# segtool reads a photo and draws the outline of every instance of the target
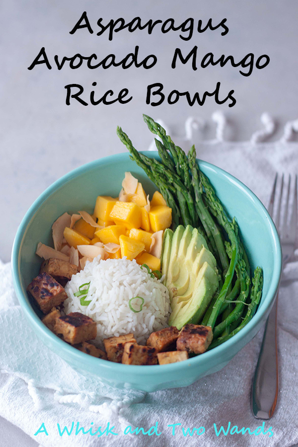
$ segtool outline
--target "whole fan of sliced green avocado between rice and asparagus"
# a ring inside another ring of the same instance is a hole
[[[171,240],[165,234],[164,245],[162,274],[172,308],[169,324],[181,329],[186,323],[198,323],[213,298],[219,284],[216,260],[204,237],[190,225],[179,225]]]

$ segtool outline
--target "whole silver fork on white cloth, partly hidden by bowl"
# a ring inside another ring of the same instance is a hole
[[[278,174],[275,176],[272,194],[270,197],[268,212],[273,219],[276,208],[275,225],[279,232],[283,252],[283,265],[291,260],[297,241],[297,175],[295,176],[294,198],[291,204],[291,175],[289,175],[288,187],[285,184],[284,174],[281,179],[280,191],[277,191]],[[286,188],[286,196],[284,189]],[[284,197],[285,196],[285,197]],[[283,197],[285,199],[285,211],[282,216]],[[292,206],[291,206],[292,205]],[[292,209],[292,213],[290,212]],[[251,391],[251,410],[257,419],[272,418],[276,409],[279,377],[278,377],[278,352],[277,352],[277,302],[276,297],[273,308],[266,322],[264,338],[254,375]]]

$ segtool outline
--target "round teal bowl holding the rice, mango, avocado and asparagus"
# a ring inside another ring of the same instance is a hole
[[[144,152],[158,159],[155,152]],[[204,161],[200,168],[210,178],[230,216],[236,216],[241,237],[253,268],[264,271],[263,295],[256,314],[234,337],[187,361],[154,366],[132,366],[100,360],[78,351],[54,335],[40,320],[26,287],[38,275],[41,259],[35,254],[38,242],[52,244],[51,226],[64,212],[93,212],[98,195],[117,196],[125,171],[131,171],[152,193],[156,187],[128,153],[108,156],[85,164],[57,180],[34,202],[22,220],[12,249],[12,274],[23,312],[38,338],[84,375],[117,388],[143,391],[187,386],[204,375],[222,369],[259,331],[277,294],[282,255],[277,230],[259,199],[239,180]]]

